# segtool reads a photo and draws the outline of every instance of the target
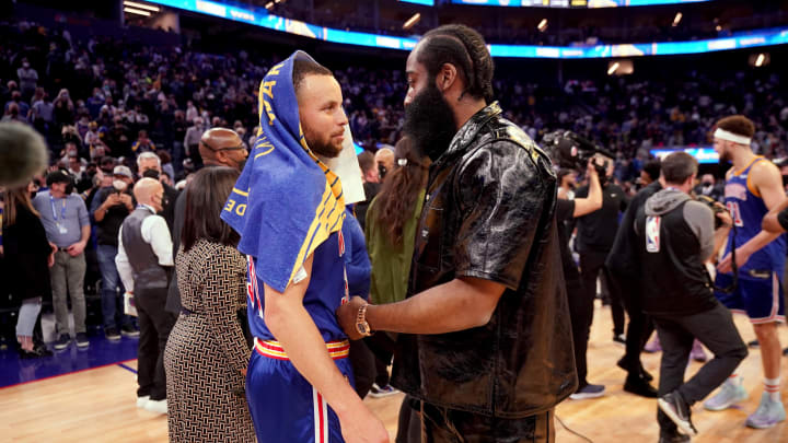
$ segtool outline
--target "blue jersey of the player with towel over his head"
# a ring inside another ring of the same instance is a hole
[[[312,276],[303,299],[304,307],[324,341],[347,339],[335,315],[348,291],[345,277],[345,238],[341,231],[331,234],[313,254]],[[255,265],[259,259],[265,257],[248,257],[246,305],[250,330],[260,340],[276,340],[263,319],[265,287],[255,273]]]

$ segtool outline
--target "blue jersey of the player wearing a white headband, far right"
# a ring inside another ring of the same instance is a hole
[[[734,230],[728,235],[726,254],[731,250],[731,242],[735,237],[735,246],[741,247],[750,238],[761,232],[761,223],[768,212],[757,189],[750,184],[749,175],[753,165],[764,158],[755,158],[744,170],[734,172],[726,182],[726,207],[733,219]],[[740,277],[754,277],[764,271],[776,272],[781,279],[786,260],[786,241],[780,235],[774,242],[754,253],[748,263],[739,268]]]

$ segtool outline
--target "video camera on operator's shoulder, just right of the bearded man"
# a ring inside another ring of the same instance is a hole
[[[606,149],[598,147],[590,140],[564,129],[546,133],[542,138],[542,147],[559,167],[584,171],[589,160],[594,159],[593,165],[596,168],[600,183],[602,184],[606,180],[607,170],[613,164],[613,159],[615,158],[615,155]]]

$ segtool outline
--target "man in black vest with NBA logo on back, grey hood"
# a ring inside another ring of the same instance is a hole
[[[714,212],[721,223],[714,230],[712,210],[690,197],[696,174],[692,155],[668,155],[662,161],[665,188],[646,200],[635,222],[644,310],[652,316],[663,349],[660,442],[690,441],[697,433],[691,406],[721,385],[748,353],[730,312],[714,295],[705,266],[728,237],[732,221],[717,206]],[[684,383],[694,338],[715,358]]]

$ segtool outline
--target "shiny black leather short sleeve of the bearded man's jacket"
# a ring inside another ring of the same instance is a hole
[[[499,140],[479,148],[454,184],[461,211],[455,275],[517,290],[555,180],[546,180],[532,151]]]

